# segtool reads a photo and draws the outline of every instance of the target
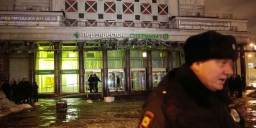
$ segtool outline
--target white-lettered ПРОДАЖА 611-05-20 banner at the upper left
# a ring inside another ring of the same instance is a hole
[[[56,15],[0,15],[0,20],[57,21]]]

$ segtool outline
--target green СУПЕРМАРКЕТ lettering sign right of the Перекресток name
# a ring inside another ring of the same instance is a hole
[[[160,39],[163,38],[167,40],[169,38],[168,34],[130,34],[131,38],[148,38],[148,39]]]

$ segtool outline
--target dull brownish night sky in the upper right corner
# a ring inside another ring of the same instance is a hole
[[[205,0],[205,13],[234,14],[237,19],[248,19],[247,31],[256,42],[256,0]]]

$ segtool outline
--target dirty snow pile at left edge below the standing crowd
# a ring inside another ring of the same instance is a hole
[[[9,101],[5,93],[0,91],[0,118],[5,117],[10,113],[20,112],[23,109],[32,108],[29,104],[16,105],[13,101]]]

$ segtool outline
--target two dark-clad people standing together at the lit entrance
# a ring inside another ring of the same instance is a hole
[[[101,82],[101,80],[98,79],[96,74],[90,75],[90,77],[88,79],[90,93],[92,93],[92,92],[97,93],[98,92],[98,82]]]

